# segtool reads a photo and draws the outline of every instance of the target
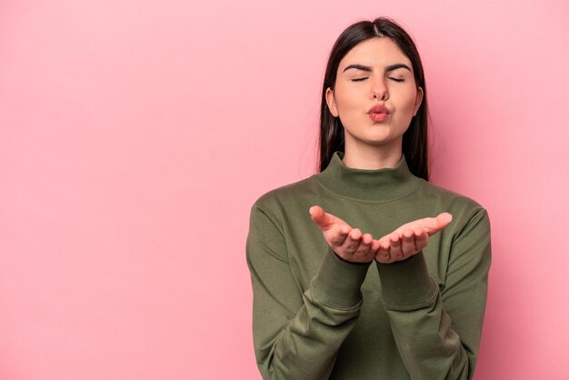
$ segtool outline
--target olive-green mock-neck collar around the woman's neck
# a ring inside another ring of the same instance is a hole
[[[354,169],[342,162],[344,152],[335,151],[330,164],[315,175],[326,189],[335,195],[374,202],[391,201],[409,195],[421,184],[407,166],[405,156],[394,168],[375,170]]]

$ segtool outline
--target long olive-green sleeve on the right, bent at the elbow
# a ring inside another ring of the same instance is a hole
[[[491,260],[490,221],[479,208],[453,237],[442,289],[423,252],[377,263],[395,343],[414,380],[473,378]]]

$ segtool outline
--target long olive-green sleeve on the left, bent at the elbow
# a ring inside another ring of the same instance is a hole
[[[360,313],[360,288],[369,265],[343,262],[328,248],[303,292],[289,265],[282,226],[256,204],[246,259],[254,295],[255,356],[263,378],[327,379]]]

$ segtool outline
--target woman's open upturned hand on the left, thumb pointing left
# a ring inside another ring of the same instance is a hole
[[[371,263],[374,260],[379,241],[374,240],[372,235],[362,235],[358,228],[352,228],[339,217],[325,213],[319,205],[313,205],[308,212],[322,231],[326,243],[340,258],[352,263]]]

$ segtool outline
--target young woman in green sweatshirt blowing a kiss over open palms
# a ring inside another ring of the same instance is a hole
[[[490,221],[429,182],[427,114],[404,29],[389,18],[345,29],[324,75],[319,173],[251,208],[264,379],[473,377]]]

